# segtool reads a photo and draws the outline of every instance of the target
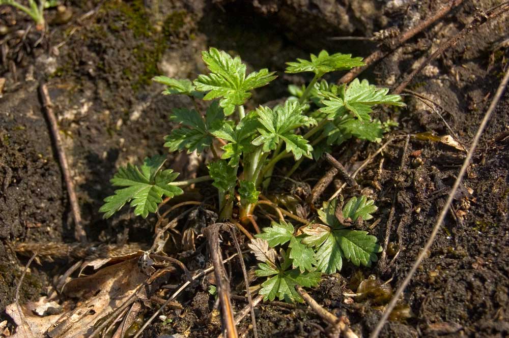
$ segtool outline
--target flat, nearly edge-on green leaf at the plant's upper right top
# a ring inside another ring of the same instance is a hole
[[[348,70],[354,67],[364,66],[362,57],[352,57],[352,54],[335,53],[329,55],[322,50],[318,56],[311,54],[311,60],[297,59],[297,62],[287,62],[287,73],[313,72],[318,76],[326,73]]]

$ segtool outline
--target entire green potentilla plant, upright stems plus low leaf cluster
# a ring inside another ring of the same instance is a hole
[[[193,102],[211,102],[205,112],[199,111],[197,105],[195,109],[174,109],[170,118],[182,126],[167,135],[164,143],[172,152],[202,153],[210,149],[215,160],[207,166],[209,175],[175,181],[178,173],[164,170],[165,158],[161,156],[146,159],[139,168],[129,164],[111,179],[112,185],[124,188],[105,199],[100,209],[104,218],[128,202],[134,207],[134,214],[146,218],[157,210],[163,195],[172,198],[183,194],[180,186],[212,180],[218,191],[220,219],[236,218],[247,224],[279,161],[293,158],[295,164],[287,173],[290,176],[304,158],[318,159],[333,145],[351,137],[380,141],[388,125],[371,117],[373,107],[405,105],[399,95],[389,95],[388,88],[376,87],[367,80],[335,85],[321,79],[329,72],[364,65],[360,57],[321,51],[318,56],[311,54],[310,60],[297,59],[287,64],[287,73],[314,73],[307,86],[291,85],[291,96],[283,104],[260,105],[246,113],[244,104],[251,91],[274,80],[275,73],[261,69],[246,74],[239,57],[216,48],[203,51],[202,57],[209,74],[199,75],[194,81],[165,76],[157,76],[154,81],[166,85],[165,95],[186,95]],[[221,153],[213,146],[215,139],[223,144]],[[336,205],[334,200],[319,211],[325,224],[296,230],[281,219],[264,228],[250,244],[261,261],[257,274],[268,276],[260,290],[267,299],[277,296],[300,301],[292,285],[316,285],[321,272],[340,270],[343,258],[366,266],[376,261],[380,249],[376,238],[349,228],[359,217],[371,218],[371,212],[376,210],[374,201],[353,197],[343,208],[344,217],[334,214]]]

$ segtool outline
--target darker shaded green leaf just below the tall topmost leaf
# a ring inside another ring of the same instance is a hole
[[[164,146],[170,151],[187,149],[187,153],[194,150],[200,153],[210,147],[214,138],[212,133],[224,124],[224,114],[217,102],[207,108],[205,119],[196,110],[187,108],[174,109],[170,119],[190,128],[173,130],[164,137]]]

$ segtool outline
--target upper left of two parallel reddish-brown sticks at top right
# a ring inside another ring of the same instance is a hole
[[[402,44],[413,38],[416,34],[422,32],[422,30],[425,30],[428,28],[432,23],[435,21],[441,19],[444,17],[449,11],[458,5],[460,5],[463,2],[463,0],[453,0],[450,1],[447,5],[439,9],[434,15],[431,17],[420,21],[416,26],[408,29],[405,33],[399,35],[398,37],[393,38],[389,42],[389,50],[377,50],[373,53],[371,53],[370,56],[366,57],[364,59],[365,66],[356,67],[352,69],[350,72],[345,74],[338,82],[340,83],[348,83],[352,81],[354,78],[359,76],[360,73],[362,73],[367,67],[371,66],[372,64],[376,63],[378,60],[384,58],[387,56],[390,52],[394,51],[398,47],[400,47]]]

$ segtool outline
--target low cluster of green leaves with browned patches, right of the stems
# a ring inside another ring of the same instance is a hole
[[[343,258],[357,266],[371,266],[377,261],[376,254],[382,249],[376,243],[377,238],[366,231],[349,228],[352,221],[372,218],[371,213],[377,210],[374,201],[365,196],[352,197],[339,218],[336,207],[337,199],[334,199],[324,203],[323,209],[318,211],[326,225],[310,224],[296,231],[290,223],[280,220],[263,228],[263,232],[251,240],[249,247],[261,261],[256,274],[268,276],[259,292],[264,300],[274,300],[277,296],[280,300],[302,301],[295,285],[317,285],[322,272],[341,270]],[[279,257],[275,251],[277,247]]]

